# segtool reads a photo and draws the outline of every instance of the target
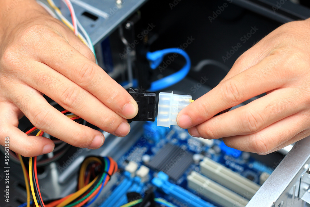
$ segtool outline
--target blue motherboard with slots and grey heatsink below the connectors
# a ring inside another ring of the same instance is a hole
[[[210,163],[214,170],[208,171]],[[156,122],[144,124],[143,136],[117,164],[120,170],[110,181],[113,186],[98,206],[120,207],[146,197],[162,200],[145,206],[245,206],[272,173],[250,153],[232,149],[220,139],[191,137],[186,129],[158,127]],[[225,186],[219,176],[231,184]],[[243,195],[243,190],[250,194]]]

